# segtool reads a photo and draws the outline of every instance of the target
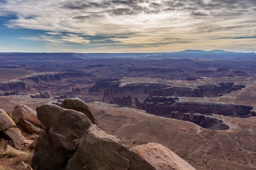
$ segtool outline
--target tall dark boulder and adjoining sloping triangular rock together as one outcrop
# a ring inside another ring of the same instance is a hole
[[[43,105],[37,108],[37,116],[46,127],[32,158],[37,170],[155,169],[81,112]]]

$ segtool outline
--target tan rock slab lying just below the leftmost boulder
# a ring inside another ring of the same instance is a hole
[[[26,138],[22,136],[19,128],[9,128],[7,130],[3,130],[3,132],[13,140],[14,146],[19,150],[27,141]]]

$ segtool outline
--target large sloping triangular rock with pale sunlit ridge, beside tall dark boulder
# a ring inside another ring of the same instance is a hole
[[[111,169],[153,170],[151,164],[132,153],[114,136],[92,125],[81,139],[76,153],[68,161],[67,170]]]

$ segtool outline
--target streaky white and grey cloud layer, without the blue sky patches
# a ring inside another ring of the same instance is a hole
[[[255,5],[253,0],[8,0],[0,4],[0,15],[17,15],[6,24],[10,28],[48,31],[48,35],[32,39],[55,46],[90,43],[79,35],[120,35],[122,38],[109,40],[119,46],[137,45],[141,50],[175,50],[181,44],[182,48],[203,44],[206,49],[212,44],[250,44],[248,40],[213,39],[255,36],[256,22],[251,22],[256,17]],[[255,43],[255,39],[251,42]]]

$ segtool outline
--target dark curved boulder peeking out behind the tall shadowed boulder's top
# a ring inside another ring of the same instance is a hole
[[[89,118],[92,124],[95,124],[95,118],[92,114],[91,109],[84,101],[80,100],[79,98],[65,99],[60,106],[66,109],[72,109],[78,112],[82,112],[87,116],[87,118]]]

